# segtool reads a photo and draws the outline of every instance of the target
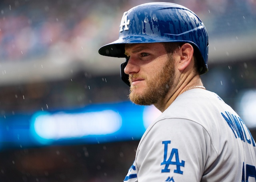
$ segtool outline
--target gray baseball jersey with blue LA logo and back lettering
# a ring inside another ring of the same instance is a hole
[[[256,182],[256,143],[217,94],[178,96],[142,136],[126,182]]]

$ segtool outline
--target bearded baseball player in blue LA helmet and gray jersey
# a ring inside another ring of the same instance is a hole
[[[126,58],[135,104],[162,114],[142,136],[126,182],[256,182],[256,143],[242,118],[206,90],[208,33],[188,8],[154,2],[124,12],[104,56]]]

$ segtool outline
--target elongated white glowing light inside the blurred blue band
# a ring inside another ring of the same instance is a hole
[[[84,113],[36,113],[36,118],[32,122],[35,134],[46,140],[113,134],[121,126],[122,118],[113,110]]]

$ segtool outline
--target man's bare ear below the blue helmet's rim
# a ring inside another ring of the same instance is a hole
[[[177,51],[176,51],[177,52]],[[191,44],[183,44],[178,48],[179,54],[179,62],[177,63],[177,68],[180,71],[183,71],[185,68],[187,68],[193,58],[194,54],[194,48]]]

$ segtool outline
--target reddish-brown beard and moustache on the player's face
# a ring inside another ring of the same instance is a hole
[[[142,75],[134,76],[144,78],[146,88],[139,94],[136,93],[136,88],[139,86],[131,86],[129,94],[130,100],[138,105],[148,106],[156,104],[166,97],[168,91],[174,84],[174,59],[172,56],[168,56],[168,60],[162,70],[155,74],[153,78],[148,79],[148,77]],[[129,77],[130,83],[131,78],[132,76]]]

